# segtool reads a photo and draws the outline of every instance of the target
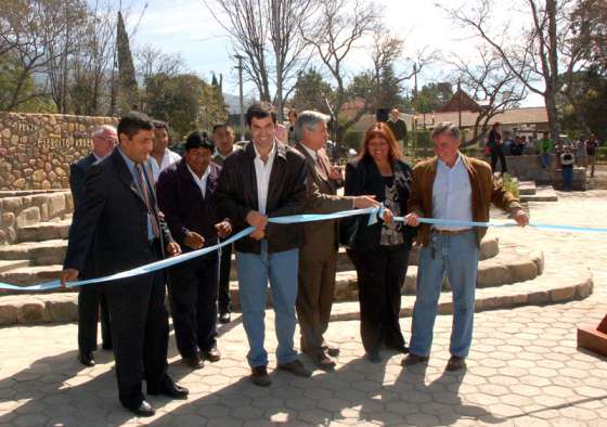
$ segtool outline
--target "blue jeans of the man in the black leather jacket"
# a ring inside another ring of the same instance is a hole
[[[247,361],[251,367],[268,364],[268,352],[263,347],[268,280],[272,290],[274,327],[279,340],[277,363],[284,364],[297,359],[297,352],[293,348],[293,336],[298,264],[299,249],[268,254],[267,241],[261,242],[260,255],[236,253],[238,295],[249,346]]]

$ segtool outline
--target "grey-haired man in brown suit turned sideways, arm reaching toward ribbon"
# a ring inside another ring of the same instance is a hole
[[[302,112],[295,122],[296,148],[306,157],[308,168],[308,198],[306,214],[332,214],[352,208],[379,206],[369,196],[337,196],[341,172],[333,168],[324,151],[328,140],[326,122],[330,117],[317,112]],[[339,349],[325,345],[323,334],[328,326],[337,249],[338,221],[319,221],[304,224],[304,246],[299,253],[299,283],[297,318],[301,333],[301,351],[309,354],[323,371],[332,371]],[[327,354],[328,353],[328,354]]]

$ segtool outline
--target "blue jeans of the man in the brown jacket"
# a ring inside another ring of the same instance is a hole
[[[453,326],[449,351],[461,358],[468,355],[473,339],[477,271],[478,245],[474,231],[455,235],[430,234],[428,246],[422,248],[419,254],[410,348],[412,353],[430,353],[438,299],[447,273],[453,293]]]

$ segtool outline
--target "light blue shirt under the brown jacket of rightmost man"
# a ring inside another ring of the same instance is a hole
[[[473,192],[462,155],[452,168],[438,160],[432,184],[432,218],[457,221],[473,220]],[[438,230],[466,230],[469,227],[435,227]]]

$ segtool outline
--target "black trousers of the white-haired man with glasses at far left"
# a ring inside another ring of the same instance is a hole
[[[101,307],[101,339],[104,348],[112,348],[109,310],[98,285],[82,286],[78,290],[78,350],[90,353],[96,350],[96,323]]]

